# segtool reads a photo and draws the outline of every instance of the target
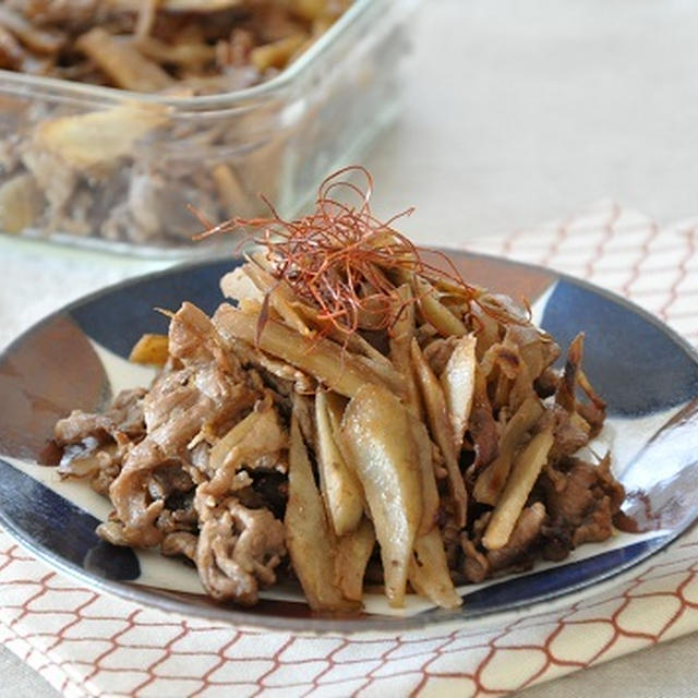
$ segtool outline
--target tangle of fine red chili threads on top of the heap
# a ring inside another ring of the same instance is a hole
[[[351,174],[363,178],[363,188],[346,179]],[[315,210],[302,218],[285,220],[262,197],[270,216],[233,217],[213,227],[198,216],[206,230],[195,239],[246,230],[245,241],[252,240],[266,250],[273,276],[315,309],[318,320],[332,323],[346,335],[357,332],[366,315],[372,328],[389,329],[405,305],[420,300],[400,299],[396,290],[412,274],[436,286],[447,281],[447,293],[457,292],[466,305],[476,302],[496,320],[516,322],[496,304],[479,303],[482,291],[462,279],[445,253],[418,246],[393,227],[412,208],[386,221],[376,218],[370,206],[372,193],[373,180],[365,168],[345,167],[323,181]],[[353,205],[351,197],[358,198]],[[444,266],[428,262],[426,255]],[[257,334],[265,323],[262,317],[261,323]]]

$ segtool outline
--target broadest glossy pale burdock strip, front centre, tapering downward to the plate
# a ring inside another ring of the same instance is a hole
[[[375,527],[385,594],[401,607],[423,512],[410,416],[387,388],[365,384],[345,410],[341,438]]]

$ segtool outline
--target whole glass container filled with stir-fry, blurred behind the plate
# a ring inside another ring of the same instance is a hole
[[[190,4],[0,3],[1,233],[206,254],[182,203],[292,216],[398,113],[416,0]]]

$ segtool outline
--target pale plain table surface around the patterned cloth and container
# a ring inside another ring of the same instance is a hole
[[[365,163],[378,213],[448,244],[613,197],[669,222],[698,214],[698,3],[425,0],[405,111]],[[44,314],[163,263],[0,240],[0,347]],[[698,695],[698,636],[527,698]],[[0,648],[0,696],[56,693]],[[595,691],[595,693],[594,693]]]

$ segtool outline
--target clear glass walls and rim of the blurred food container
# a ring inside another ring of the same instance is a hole
[[[395,116],[416,0],[357,0],[296,62],[233,93],[163,97],[0,70],[0,231],[192,255],[212,224],[292,216]]]

